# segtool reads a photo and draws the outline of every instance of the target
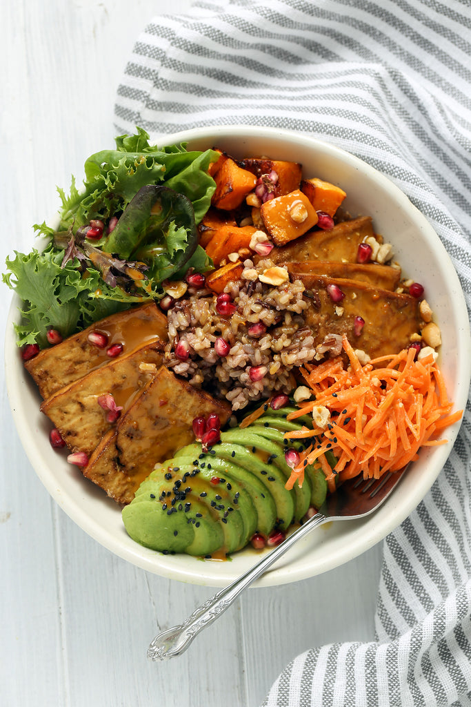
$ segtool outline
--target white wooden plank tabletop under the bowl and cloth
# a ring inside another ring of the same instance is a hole
[[[189,0],[2,3],[1,262],[30,250],[56,185],[112,146],[114,93],[138,32]],[[5,64],[6,62],[6,64]],[[3,265],[2,265],[3,269]],[[1,286],[1,327],[11,293]],[[3,368],[3,367],[2,367]],[[5,707],[258,705],[295,655],[374,636],[381,546],[280,588],[249,590],[181,658],[148,643],[213,590],[138,570],[56,506],[20,446],[1,380],[0,704]]]

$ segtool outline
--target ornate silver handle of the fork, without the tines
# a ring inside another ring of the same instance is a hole
[[[213,597],[201,604],[191,616],[182,624],[167,629],[155,636],[148,648],[149,660],[168,660],[174,658],[189,647],[193,638],[200,631],[213,623],[231,604],[237,599],[239,594],[263,575],[269,567],[273,565],[282,555],[285,554],[299,539],[307,535],[313,528],[321,525],[327,520],[322,513],[316,513],[303,525],[283,540],[269,554],[263,556],[261,561],[254,564],[241,577],[234,580],[226,588],[217,592]]]

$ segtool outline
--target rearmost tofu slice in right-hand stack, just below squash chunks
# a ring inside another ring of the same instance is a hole
[[[374,238],[370,216],[342,221],[330,230],[313,230],[289,245],[273,248],[270,259],[274,263],[329,260],[357,262],[358,246],[365,238]]]

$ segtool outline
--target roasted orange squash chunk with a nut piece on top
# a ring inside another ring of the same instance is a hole
[[[318,221],[316,209],[299,189],[266,201],[260,214],[268,235],[278,246],[304,235]]]

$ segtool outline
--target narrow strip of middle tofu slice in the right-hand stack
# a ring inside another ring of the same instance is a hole
[[[308,260],[287,263],[293,279],[299,275],[324,275],[327,277],[357,280],[383,290],[395,290],[400,281],[400,269],[378,263],[337,263],[327,260]]]

